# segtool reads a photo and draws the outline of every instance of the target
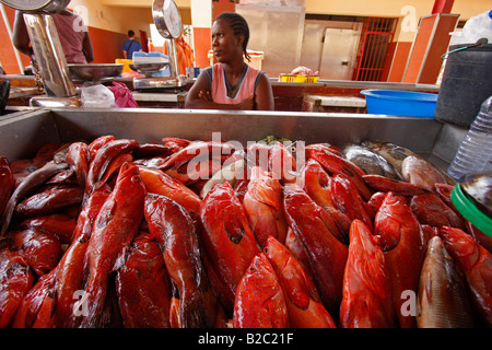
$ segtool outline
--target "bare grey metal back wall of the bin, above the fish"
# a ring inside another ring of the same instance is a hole
[[[163,137],[212,140],[212,133],[220,132],[214,139],[238,141],[244,147],[248,141],[258,141],[267,136],[302,140],[306,144],[329,142],[335,145],[383,140],[426,155],[443,167],[450,162],[462,138],[460,130],[446,130],[447,126],[435,119],[384,115],[39,108],[0,119],[0,155],[12,162],[33,156],[48,142],[90,142],[102,135],[144,143],[160,142]]]

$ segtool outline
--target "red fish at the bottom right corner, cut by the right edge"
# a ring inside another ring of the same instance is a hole
[[[459,229],[441,228],[440,236],[465,272],[480,326],[492,327],[492,254]]]

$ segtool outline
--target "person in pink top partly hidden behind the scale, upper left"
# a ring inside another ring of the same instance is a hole
[[[92,62],[94,50],[82,18],[68,9],[60,13],[52,13],[51,18],[57,27],[67,63],[85,65]],[[19,51],[30,56],[35,61],[27,27],[21,11],[15,11],[12,43]]]

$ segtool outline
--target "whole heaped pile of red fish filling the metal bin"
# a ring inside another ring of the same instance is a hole
[[[304,151],[103,136],[0,158],[0,327],[492,326],[492,238],[437,170]]]

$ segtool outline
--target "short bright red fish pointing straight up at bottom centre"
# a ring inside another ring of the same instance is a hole
[[[251,260],[237,285],[234,328],[286,328],[289,315],[282,288],[263,253]]]

